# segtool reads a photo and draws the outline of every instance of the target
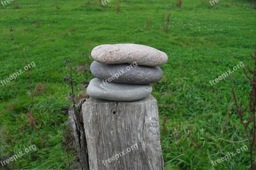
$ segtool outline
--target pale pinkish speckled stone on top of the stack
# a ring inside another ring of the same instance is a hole
[[[134,63],[160,66],[167,62],[167,55],[156,48],[138,44],[106,44],[92,49],[92,58],[102,64]]]

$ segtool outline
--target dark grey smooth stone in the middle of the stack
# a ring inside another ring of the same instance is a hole
[[[94,77],[115,83],[151,84],[163,77],[160,67],[136,64],[101,64],[94,61],[90,70]]]

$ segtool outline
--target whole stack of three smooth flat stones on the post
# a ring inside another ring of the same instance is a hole
[[[93,98],[133,101],[152,92],[150,84],[163,77],[158,67],[167,62],[167,55],[155,48],[138,44],[100,45],[92,50],[95,60],[90,70],[96,78],[87,87]]]

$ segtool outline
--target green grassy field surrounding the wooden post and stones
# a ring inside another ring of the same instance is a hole
[[[117,13],[117,0],[107,7],[99,0],[88,2],[0,4],[0,79],[23,69],[25,57],[36,65],[6,85],[0,84],[0,141],[15,152],[33,144],[37,147],[19,159],[23,167],[69,166],[60,143],[68,119],[60,109],[71,103],[65,101],[71,92],[63,81],[68,75],[65,59],[72,58],[75,71],[77,64],[89,64],[89,46],[135,43],[168,55],[168,62],[161,66],[164,77],[152,85],[165,169],[247,169],[249,150],[215,166],[211,161],[244,145],[249,148],[231,91],[234,87],[239,101],[248,104],[249,81],[241,68],[213,86],[209,80],[241,62],[252,68],[249,54],[254,53],[256,42],[256,11],[251,3],[222,0],[212,7],[207,0],[190,0],[178,8],[176,0],[123,0]],[[88,80],[92,78],[88,73]],[[38,83],[44,86],[34,95],[35,108],[29,80],[32,93]],[[86,96],[85,74],[74,73],[73,80],[76,96]],[[3,146],[0,150],[0,156],[7,159],[8,151]],[[21,168],[18,162],[14,166]]]

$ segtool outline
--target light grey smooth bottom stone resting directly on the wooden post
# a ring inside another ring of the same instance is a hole
[[[87,94],[92,98],[133,101],[147,97],[152,92],[151,85],[134,85],[123,83],[104,82],[98,78],[90,81]]]

